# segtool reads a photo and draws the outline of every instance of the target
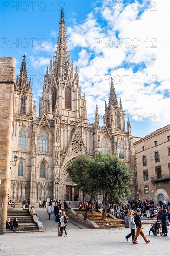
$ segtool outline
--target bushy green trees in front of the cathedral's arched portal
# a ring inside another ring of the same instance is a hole
[[[103,155],[101,152],[94,158],[79,155],[68,168],[72,180],[84,194],[94,197],[103,195],[103,219],[106,219],[107,198],[114,198],[122,204],[130,195],[132,170],[116,156]]]

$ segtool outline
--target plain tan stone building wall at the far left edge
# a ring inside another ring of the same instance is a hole
[[[10,194],[15,58],[0,58],[0,223],[5,229]]]

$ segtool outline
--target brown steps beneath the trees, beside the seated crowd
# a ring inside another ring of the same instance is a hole
[[[74,209],[77,214],[84,215],[87,210],[82,209]],[[92,213],[88,213],[89,219],[94,221],[98,225],[98,229],[111,229],[124,227],[124,222],[122,220],[118,220],[111,214],[107,214],[106,221],[102,220],[102,211],[100,209],[93,209]]]

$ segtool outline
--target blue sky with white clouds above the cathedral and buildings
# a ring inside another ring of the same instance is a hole
[[[78,66],[89,121],[97,104],[103,125],[112,76],[132,135],[143,137],[170,123],[170,1],[1,0],[0,5],[1,57],[16,58],[17,75],[26,54],[37,110],[63,7],[69,54]]]

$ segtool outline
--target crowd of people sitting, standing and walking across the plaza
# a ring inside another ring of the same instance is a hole
[[[8,204],[12,205],[11,200],[9,200]],[[30,208],[30,199],[23,200],[22,205],[23,208]],[[114,202],[114,200],[111,200],[111,202],[108,201],[108,199],[105,202],[107,207],[107,212],[114,215],[116,218],[124,218],[124,216],[128,216],[129,220],[129,227],[131,229],[131,233],[127,235],[125,238],[128,241],[128,239],[132,236],[133,244],[137,243],[137,237],[141,235],[146,243],[149,243],[150,240],[147,240],[144,236],[144,233],[141,228],[141,221],[140,218],[155,218],[157,217],[157,220],[162,221],[162,232],[163,237],[167,236],[167,226],[168,221],[170,221],[170,201],[166,202],[165,200],[159,201],[157,205],[154,203],[152,199],[150,200],[137,200],[136,198],[134,200],[127,200],[124,205],[121,207],[118,206],[117,203]],[[62,206],[64,210],[62,211]],[[79,209],[82,209],[83,203],[79,202]],[[85,201],[84,209],[86,210],[84,215],[84,220],[88,221],[89,216],[88,213],[92,211],[92,209],[101,209],[103,205],[99,203],[96,199],[94,202],[91,202],[91,200]],[[45,208],[47,209],[48,218],[50,220],[52,212],[54,213],[54,222],[58,223],[58,236],[63,237],[63,232],[65,232],[65,236],[67,235],[66,227],[69,222],[68,216],[66,216],[67,209],[71,209],[70,202],[67,203],[65,200],[64,202],[61,201],[61,199],[53,200],[50,199],[49,202],[47,202],[46,199],[39,200],[39,208]],[[35,212],[35,206],[32,205],[30,209],[30,214],[36,215],[37,219],[38,215]],[[13,223],[11,222],[10,218],[7,218],[6,221],[6,229],[10,229],[13,231],[17,231],[18,229],[18,220],[17,218],[14,218]],[[137,229],[137,232],[135,233],[135,230]]]

